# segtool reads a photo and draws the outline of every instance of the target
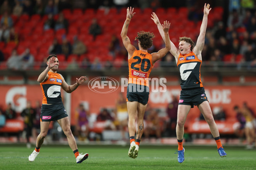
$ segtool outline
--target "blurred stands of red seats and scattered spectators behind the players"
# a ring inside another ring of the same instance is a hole
[[[234,5],[230,0],[227,7],[212,2],[213,12],[209,16],[202,52],[206,63],[228,62],[235,66],[255,67],[256,9],[253,2],[245,1]],[[120,30],[115,28],[122,24],[123,19],[115,15],[125,11],[123,7],[139,7],[137,13],[141,13],[143,19],[148,18],[149,23],[152,11],[166,15],[166,19],[181,15],[182,23],[188,28],[184,28],[186,33],[178,32],[178,35],[189,36],[195,41],[203,14],[198,3],[190,0],[183,5],[164,0],[4,0],[0,4],[0,62],[7,61],[7,67],[14,70],[44,68],[44,58],[59,54],[61,62],[68,62],[65,67],[68,69],[77,66],[93,70],[125,67],[127,52],[120,45]],[[173,25],[181,22],[170,21]],[[134,33],[134,29],[130,31]],[[170,28],[170,37],[177,31],[175,26]],[[155,39],[151,51],[164,45],[161,39]],[[162,67],[174,65],[171,54],[167,54],[160,64]]]

